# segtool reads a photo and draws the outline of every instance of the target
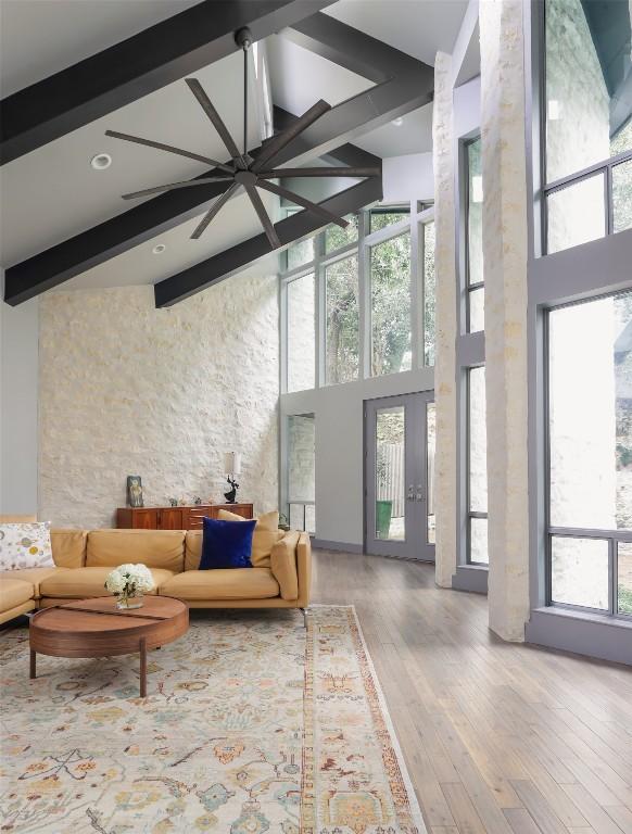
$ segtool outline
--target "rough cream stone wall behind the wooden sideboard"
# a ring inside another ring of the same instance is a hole
[[[152,287],[58,292],[40,315],[40,517],[110,527],[140,475],[146,505],[278,506],[276,277],[237,276],[169,309]]]

